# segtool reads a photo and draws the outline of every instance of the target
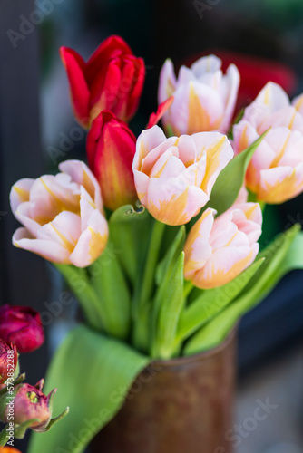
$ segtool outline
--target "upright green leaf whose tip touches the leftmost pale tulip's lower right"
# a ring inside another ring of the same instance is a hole
[[[104,332],[125,340],[131,328],[131,295],[120,262],[112,254],[110,240],[89,271],[100,304]]]

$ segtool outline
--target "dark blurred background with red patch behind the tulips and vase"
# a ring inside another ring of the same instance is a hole
[[[40,14],[34,14],[37,10]],[[64,159],[85,159],[85,133],[73,119],[60,45],[87,59],[105,37],[121,34],[144,58],[146,83],[131,123],[138,134],[157,108],[159,72],[167,57],[176,68],[209,53],[218,54],[225,68],[236,63],[238,108],[269,80],[279,82],[290,97],[303,92],[303,2],[1,0],[0,31],[0,304],[28,304],[42,313],[47,342],[22,357],[34,383],[73,325],[76,303],[59,300],[62,282],[50,265],[11,245],[17,223],[8,194],[19,178],[56,171]],[[261,245],[296,222],[303,225],[302,201],[300,196],[266,208]],[[235,432],[246,426],[256,401],[266,399],[277,408],[254,429],[242,431],[237,453],[302,453],[302,271],[287,275],[239,326]]]

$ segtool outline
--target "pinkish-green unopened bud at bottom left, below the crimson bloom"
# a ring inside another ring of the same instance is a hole
[[[22,439],[26,429],[30,428],[36,432],[45,432],[54,425],[56,421],[62,419],[67,413],[68,408],[57,417],[52,419],[53,397],[56,389],[49,395],[43,393],[44,380],[36,385],[21,383],[15,386],[11,404],[7,404],[6,393],[0,397],[0,420],[8,423],[14,412],[15,437]],[[14,410],[12,409],[14,408]]]

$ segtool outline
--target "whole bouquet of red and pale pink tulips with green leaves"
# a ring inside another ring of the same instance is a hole
[[[71,412],[31,453],[83,451],[153,359],[206,351],[289,270],[303,266],[298,225],[259,252],[262,210],[303,191],[303,95],[269,82],[232,126],[239,71],[220,59],[160,74],[159,108],[128,125],[144,63],[111,36],[87,63],[61,58],[87,162],[21,179],[15,246],[51,261],[83,310],[47,376]],[[163,130],[157,124],[161,120]],[[226,135],[228,134],[228,135]],[[46,439],[46,440],[45,440]]]

